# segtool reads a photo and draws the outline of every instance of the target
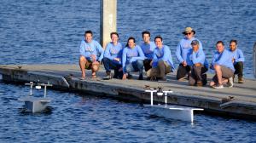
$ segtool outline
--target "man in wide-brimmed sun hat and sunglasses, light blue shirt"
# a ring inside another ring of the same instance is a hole
[[[183,80],[185,76],[190,72],[189,62],[189,50],[192,49],[191,42],[197,40],[199,42],[199,49],[202,49],[201,42],[195,38],[195,31],[191,27],[186,27],[183,31],[183,39],[177,44],[176,57],[179,62],[177,68],[177,80]]]

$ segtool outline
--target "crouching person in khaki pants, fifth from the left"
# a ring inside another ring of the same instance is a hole
[[[150,72],[151,80],[166,81],[166,74],[174,70],[171,50],[163,44],[160,36],[154,37],[156,48],[152,62],[152,71]]]

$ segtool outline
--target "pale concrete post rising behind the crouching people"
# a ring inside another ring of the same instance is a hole
[[[101,0],[101,44],[105,49],[111,41],[110,33],[116,31],[117,0]]]

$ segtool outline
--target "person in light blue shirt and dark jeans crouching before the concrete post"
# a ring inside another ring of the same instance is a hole
[[[119,43],[119,34],[117,32],[111,32],[110,37],[112,42],[108,43],[104,52],[104,58],[102,60],[107,77],[103,79],[111,79],[111,69],[114,70],[114,78],[123,77],[123,72],[121,71],[122,63],[122,44]]]

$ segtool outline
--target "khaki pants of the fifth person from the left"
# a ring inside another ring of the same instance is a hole
[[[148,77],[166,77],[166,74],[172,72],[172,66],[168,65],[166,61],[160,60],[157,64],[157,67],[148,70],[147,76]]]

